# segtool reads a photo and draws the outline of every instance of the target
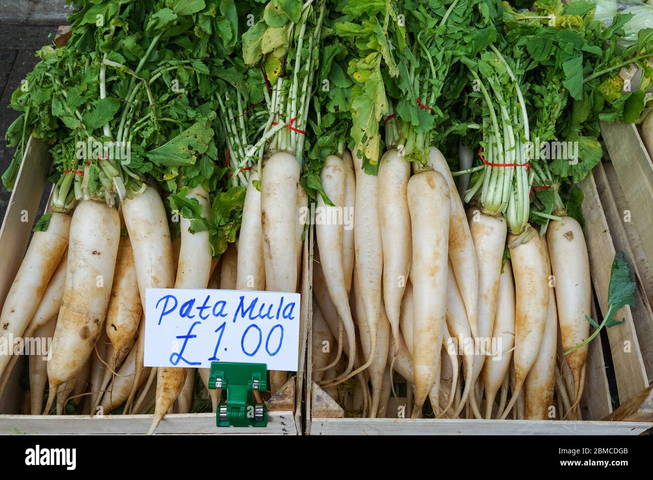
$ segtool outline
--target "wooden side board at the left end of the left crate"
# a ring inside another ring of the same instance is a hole
[[[23,261],[50,163],[46,144],[30,136],[0,227],[0,308]],[[22,221],[24,212],[27,221]]]

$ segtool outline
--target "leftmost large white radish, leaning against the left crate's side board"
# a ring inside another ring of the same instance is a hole
[[[70,227],[70,215],[52,212],[48,229],[33,234],[0,313],[0,342],[23,336],[68,247]],[[12,357],[9,350],[9,355],[0,355],[0,377]]]

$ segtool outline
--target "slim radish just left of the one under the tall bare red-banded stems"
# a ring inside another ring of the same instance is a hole
[[[503,384],[503,379],[508,374],[510,362],[513,359],[513,346],[515,345],[515,285],[513,283],[513,267],[509,260],[503,264],[503,272],[499,281],[499,294],[497,297],[496,316],[492,339],[500,348],[493,351],[492,357],[483,366],[483,384],[485,385],[485,398],[490,401],[485,411],[485,418],[492,416],[491,406]],[[503,411],[500,410],[499,413]]]

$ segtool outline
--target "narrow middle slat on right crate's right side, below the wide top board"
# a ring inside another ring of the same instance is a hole
[[[603,170],[603,165],[599,163],[599,165],[594,167],[592,172],[594,173],[594,181],[596,182],[596,189],[601,199],[601,204],[603,204],[605,219],[610,227],[614,248],[623,251],[626,255],[626,261],[628,262],[631,274],[633,274],[632,276],[637,283],[637,288],[635,289],[635,293],[633,293],[635,304],[631,308],[631,313],[633,315],[635,331],[637,332],[639,349],[641,350],[642,360],[644,361],[644,368],[646,368],[646,378],[650,383],[653,379],[653,313],[648,305],[642,280],[637,270],[637,262],[628,242],[628,236],[624,228],[624,216],[618,211],[616,202],[614,202],[611,186],[605,170]]]

